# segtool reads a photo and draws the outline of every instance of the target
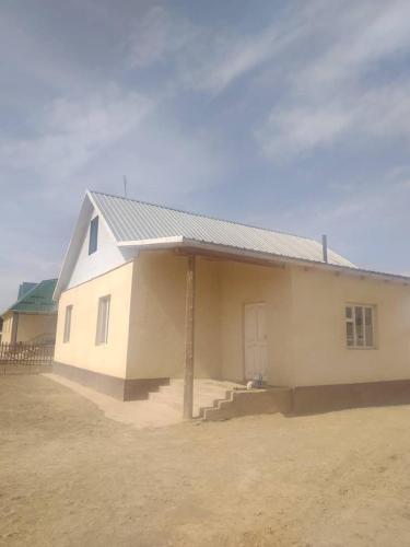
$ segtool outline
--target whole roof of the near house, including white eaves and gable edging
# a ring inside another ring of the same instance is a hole
[[[120,249],[124,263],[140,249],[184,247],[263,263],[312,265],[410,284],[408,276],[359,268],[331,248],[325,261],[321,243],[313,238],[87,190],[56,284],[56,301],[70,282],[93,211]]]

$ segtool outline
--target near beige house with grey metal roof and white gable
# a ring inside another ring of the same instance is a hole
[[[124,400],[173,377],[410,401],[410,278],[311,238],[87,191],[56,286],[55,371]]]

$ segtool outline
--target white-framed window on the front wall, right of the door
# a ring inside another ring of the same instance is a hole
[[[345,341],[348,348],[374,348],[375,307],[362,304],[345,306]]]

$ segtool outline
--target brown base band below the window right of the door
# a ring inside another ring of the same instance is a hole
[[[293,387],[293,414],[410,404],[410,380]]]

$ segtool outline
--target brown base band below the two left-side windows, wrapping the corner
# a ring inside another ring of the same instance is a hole
[[[147,399],[151,392],[169,384],[168,377],[120,379],[59,362],[54,362],[52,372],[120,400]]]

